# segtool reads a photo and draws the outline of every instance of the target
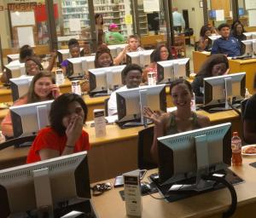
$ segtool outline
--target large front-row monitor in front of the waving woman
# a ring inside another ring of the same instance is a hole
[[[160,183],[166,185],[196,177],[195,184],[181,190],[212,187],[201,182],[201,175],[230,165],[230,127],[231,123],[223,123],[158,138]]]

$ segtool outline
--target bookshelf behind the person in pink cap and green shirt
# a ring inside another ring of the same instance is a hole
[[[125,37],[132,34],[131,25],[125,24],[125,14],[131,14],[130,0],[94,0],[93,4],[94,13],[103,16],[104,32],[108,32],[108,26],[115,23]]]

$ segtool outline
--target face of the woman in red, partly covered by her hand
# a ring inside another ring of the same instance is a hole
[[[78,101],[73,101],[68,105],[67,115],[62,118],[62,125],[67,129],[69,123],[73,123],[76,116],[84,120],[84,110]]]

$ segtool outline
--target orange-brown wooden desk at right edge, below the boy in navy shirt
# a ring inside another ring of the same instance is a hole
[[[248,59],[248,60],[229,60],[230,63],[230,73],[236,72],[246,72],[246,87],[250,94],[255,93],[255,89],[253,87],[254,77],[256,73],[256,59]]]

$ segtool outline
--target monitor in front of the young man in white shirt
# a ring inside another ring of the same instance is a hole
[[[144,123],[143,108],[166,112],[166,85],[141,86],[134,89],[116,91],[118,122]]]

